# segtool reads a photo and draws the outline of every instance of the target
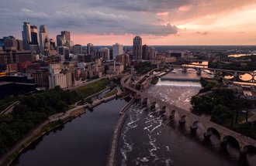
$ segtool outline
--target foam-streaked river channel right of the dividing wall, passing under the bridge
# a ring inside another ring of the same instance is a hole
[[[167,76],[184,75],[196,77],[193,71],[182,73],[177,69]],[[200,89],[195,82],[161,81],[145,93],[190,111],[190,98]],[[231,144],[227,145],[227,151],[220,151],[216,135],[205,141],[202,128],[191,134],[189,127],[164,120],[158,110],[158,106],[150,110],[140,102],[130,107],[119,138],[117,165],[255,165],[256,155],[247,155],[247,161],[240,161],[239,151]]]

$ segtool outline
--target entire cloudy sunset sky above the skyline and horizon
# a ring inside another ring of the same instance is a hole
[[[22,39],[22,22],[75,44],[256,45],[255,0],[1,0],[0,37]]]

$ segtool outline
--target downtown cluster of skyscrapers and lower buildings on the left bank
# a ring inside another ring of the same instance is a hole
[[[154,47],[142,45],[139,36],[134,37],[132,49],[124,49],[120,43],[81,46],[71,41],[71,32],[61,31],[51,39],[47,25],[37,29],[36,25],[23,22],[22,40],[14,36],[0,39],[0,89],[9,87],[9,82],[26,83],[33,88],[68,88],[106,74],[130,71],[131,66],[144,60],[159,62]]]

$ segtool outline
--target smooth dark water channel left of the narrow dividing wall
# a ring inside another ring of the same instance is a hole
[[[112,128],[125,100],[111,100],[50,132],[24,151],[12,165],[106,165]]]

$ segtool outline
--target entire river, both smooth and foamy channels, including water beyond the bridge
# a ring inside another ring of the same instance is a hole
[[[175,69],[166,76],[197,76],[195,71],[182,73]],[[199,92],[196,82],[161,81],[150,86],[148,93],[190,111],[190,98]],[[95,107],[50,132],[24,151],[12,165],[106,165],[112,127],[119,117],[124,100],[111,100]],[[191,134],[189,127],[164,120],[163,115],[148,110],[140,102],[127,111],[127,118],[119,137],[117,165],[254,165],[256,155],[247,154],[240,161],[239,151],[227,144],[227,151],[220,151],[220,140],[213,134],[211,141],[203,139],[201,128]]]

